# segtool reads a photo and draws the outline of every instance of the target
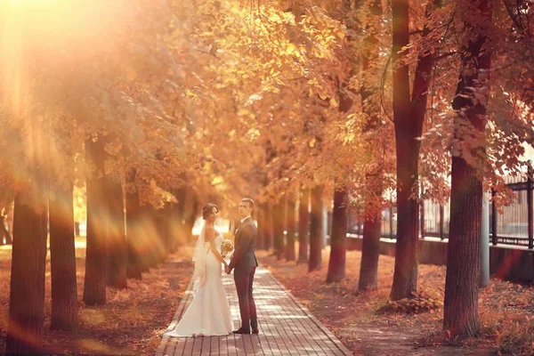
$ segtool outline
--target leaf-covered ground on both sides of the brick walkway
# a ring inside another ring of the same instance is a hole
[[[481,289],[481,337],[459,342],[440,334],[442,309],[414,315],[381,314],[392,284],[394,259],[380,256],[378,288],[357,293],[360,252],[347,253],[347,278],[327,284],[328,247],[321,271],[307,272],[306,264],[278,261],[257,253],[267,267],[355,355],[534,354],[534,287],[491,279]],[[80,328],[74,333],[51,331],[50,261],[46,270],[46,325],[44,345],[55,353],[154,354],[173,319],[192,274],[192,247],[181,247],[158,269],[129,279],[124,291],[109,288],[108,304],[85,307],[80,303]],[[4,351],[8,319],[10,247],[0,247],[0,352]],[[82,300],[85,243],[77,239],[78,300]],[[442,300],[445,267],[419,266],[419,286]]]

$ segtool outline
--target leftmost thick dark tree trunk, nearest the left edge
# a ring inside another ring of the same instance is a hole
[[[9,325],[5,352],[42,352],[46,203],[36,190],[15,198]]]

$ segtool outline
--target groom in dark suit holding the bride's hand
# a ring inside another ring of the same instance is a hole
[[[250,334],[251,332],[258,334],[258,319],[252,295],[254,273],[258,266],[254,254],[257,229],[251,217],[253,211],[254,200],[242,198],[239,203],[241,222],[236,230],[235,252],[231,256],[230,264],[225,269],[228,274],[232,269],[235,270],[234,280],[238,290],[241,328],[235,330],[234,334]]]

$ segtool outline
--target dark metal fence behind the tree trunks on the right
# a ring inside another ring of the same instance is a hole
[[[490,242],[493,245],[503,244],[518,247],[534,247],[534,207],[532,204],[532,172],[528,178],[506,178],[507,186],[514,190],[517,198],[511,206],[502,206],[503,214],[491,203],[490,206]],[[429,200],[421,202],[419,210],[419,238],[449,239],[450,202],[438,204]],[[361,235],[363,222],[357,216],[349,217],[349,233]],[[396,239],[397,206],[394,204],[382,212],[382,237]]]

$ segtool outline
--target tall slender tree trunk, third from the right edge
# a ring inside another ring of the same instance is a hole
[[[376,152],[376,142],[373,141],[372,134],[377,127],[381,125],[380,107],[377,103],[379,88],[376,85],[376,67],[372,61],[376,56],[378,33],[380,31],[379,23],[382,18],[382,4],[380,0],[374,0],[370,4],[370,13],[368,26],[366,28],[366,37],[364,39],[364,48],[362,53],[362,84],[360,87],[360,96],[363,112],[368,117],[368,122],[364,127],[366,134],[369,134],[370,140],[368,150],[374,155],[374,160],[379,160]],[[381,152],[382,153],[382,152]],[[382,219],[381,204],[376,204],[376,200],[382,201],[383,189],[383,165],[376,164],[366,172],[366,201],[364,201],[363,211],[363,236],[361,247],[360,279],[358,289],[363,291],[376,288],[378,275],[378,258],[380,256],[380,223]]]

